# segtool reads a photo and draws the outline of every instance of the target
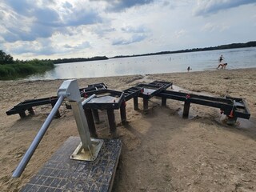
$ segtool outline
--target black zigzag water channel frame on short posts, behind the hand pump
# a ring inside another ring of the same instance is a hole
[[[114,102],[89,102],[86,104],[86,106],[83,106],[84,109],[92,110],[92,114],[94,114],[94,119],[96,122],[98,121],[97,110],[118,110],[119,108],[122,120],[123,122],[126,122],[126,101],[134,98],[134,110],[138,110],[138,97],[143,98],[143,110],[148,110],[148,100],[154,96],[162,98],[162,106],[166,106],[167,98],[185,102],[183,110],[184,118],[186,118],[189,114],[190,103],[219,108],[223,114],[226,114],[230,118],[250,118],[250,111],[246,106],[246,101],[242,98],[232,98],[229,96],[226,96],[226,98],[214,98],[198,94],[187,94],[166,90],[170,86],[172,86],[171,82],[154,81],[148,84],[138,84],[137,86],[130,87],[129,89],[123,91],[117,91],[108,90],[106,84],[102,82],[91,84],[88,87],[79,90],[81,97],[84,98],[92,94],[118,97],[118,100]],[[152,92],[150,94],[143,94],[143,90],[145,88],[151,89]],[[12,109],[6,111],[6,114],[19,114],[21,118],[24,118],[26,117],[26,110],[28,110],[30,114],[34,114],[33,106],[41,106],[45,104],[51,104],[54,106],[57,100],[57,97],[26,100],[25,102],[20,102]]]

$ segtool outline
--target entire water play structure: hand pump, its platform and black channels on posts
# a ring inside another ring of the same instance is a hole
[[[104,83],[79,89],[77,80],[67,80],[59,87],[58,96],[18,103],[6,114],[19,114],[25,118],[26,110],[34,113],[34,106],[51,104],[53,109],[14,170],[13,177],[19,177],[26,168],[50,122],[56,114],[60,115],[58,108],[64,99],[73,110],[80,138],[68,138],[22,191],[110,191],[122,149],[121,140],[114,139],[117,136],[114,110],[120,110],[121,121],[126,123],[126,102],[132,98],[134,110],[138,110],[138,98],[142,98],[143,111],[146,111],[150,98],[158,97],[162,99],[162,106],[166,106],[167,99],[184,102],[183,118],[188,118],[191,103],[219,108],[227,116],[229,124],[234,124],[237,118],[250,118],[250,111],[242,98],[215,98],[166,90],[170,86],[171,82],[154,81],[123,91],[109,90]],[[106,110],[112,139],[98,139],[95,128],[95,123],[100,122],[98,110]]]

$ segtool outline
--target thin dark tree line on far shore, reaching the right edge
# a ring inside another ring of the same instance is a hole
[[[140,56],[149,56],[149,55],[156,55],[156,54],[179,54],[179,53],[205,51],[205,50],[226,50],[226,49],[244,48],[244,47],[252,47],[252,46],[256,46],[256,42],[232,43],[232,44],[227,44],[222,46],[210,46],[205,48],[193,48],[193,49],[186,49],[186,50],[161,51],[161,52],[150,53],[150,54],[118,55],[118,56],[114,56],[113,58],[140,57]]]

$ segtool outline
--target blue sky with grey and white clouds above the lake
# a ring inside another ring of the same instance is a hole
[[[146,54],[256,40],[255,0],[2,0],[18,59]]]

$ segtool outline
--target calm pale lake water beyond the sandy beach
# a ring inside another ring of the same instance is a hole
[[[210,50],[183,54],[162,54],[134,58],[112,58],[94,62],[72,62],[57,64],[54,70],[42,75],[30,76],[30,80],[57,78],[94,78],[129,74],[161,74],[216,70],[218,58],[223,54],[226,69],[256,67],[256,47]]]

